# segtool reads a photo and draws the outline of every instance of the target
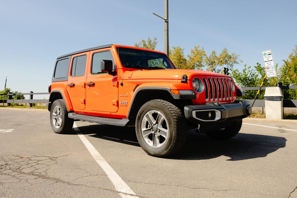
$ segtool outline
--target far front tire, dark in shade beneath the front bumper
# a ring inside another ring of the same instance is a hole
[[[230,127],[208,131],[205,134],[215,140],[227,140],[237,135],[242,125],[242,119],[235,121],[235,124]]]

